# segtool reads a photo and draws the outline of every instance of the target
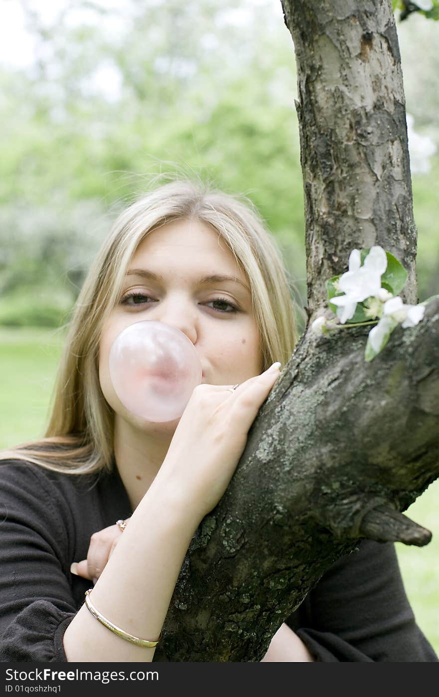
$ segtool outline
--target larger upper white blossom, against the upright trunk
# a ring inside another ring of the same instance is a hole
[[[338,288],[345,295],[330,300],[333,305],[337,305],[337,317],[342,324],[353,317],[357,302],[376,296],[381,291],[381,276],[388,263],[383,248],[372,247],[363,266],[360,263],[360,250],[352,250],[349,255],[349,271],[338,279]]]

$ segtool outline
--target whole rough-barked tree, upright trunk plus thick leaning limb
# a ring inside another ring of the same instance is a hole
[[[409,272],[416,236],[390,1],[285,0],[298,63],[310,315],[353,247]],[[369,328],[367,328],[369,329]],[[439,300],[367,363],[367,330],[305,330],[179,574],[154,661],[260,661],[359,539],[426,544],[400,511],[439,476]]]

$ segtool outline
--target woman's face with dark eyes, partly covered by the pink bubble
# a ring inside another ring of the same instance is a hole
[[[142,320],[184,332],[200,358],[202,383],[234,385],[262,372],[248,282],[224,241],[203,222],[177,220],[149,233],[129,264],[120,303],[102,329],[102,392],[116,415],[137,426],[139,418],[113,390],[109,353],[122,329]]]

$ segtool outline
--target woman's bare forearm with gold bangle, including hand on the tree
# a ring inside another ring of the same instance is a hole
[[[227,489],[279,365],[234,392],[221,385],[193,390],[159,473],[90,594],[113,625],[138,638],[158,638],[191,539]],[[68,661],[152,661],[154,656],[154,649],[106,629],[84,606],[63,641]]]

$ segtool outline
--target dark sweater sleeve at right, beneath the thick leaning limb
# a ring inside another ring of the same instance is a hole
[[[394,544],[362,540],[287,619],[317,661],[438,661],[415,622]]]

